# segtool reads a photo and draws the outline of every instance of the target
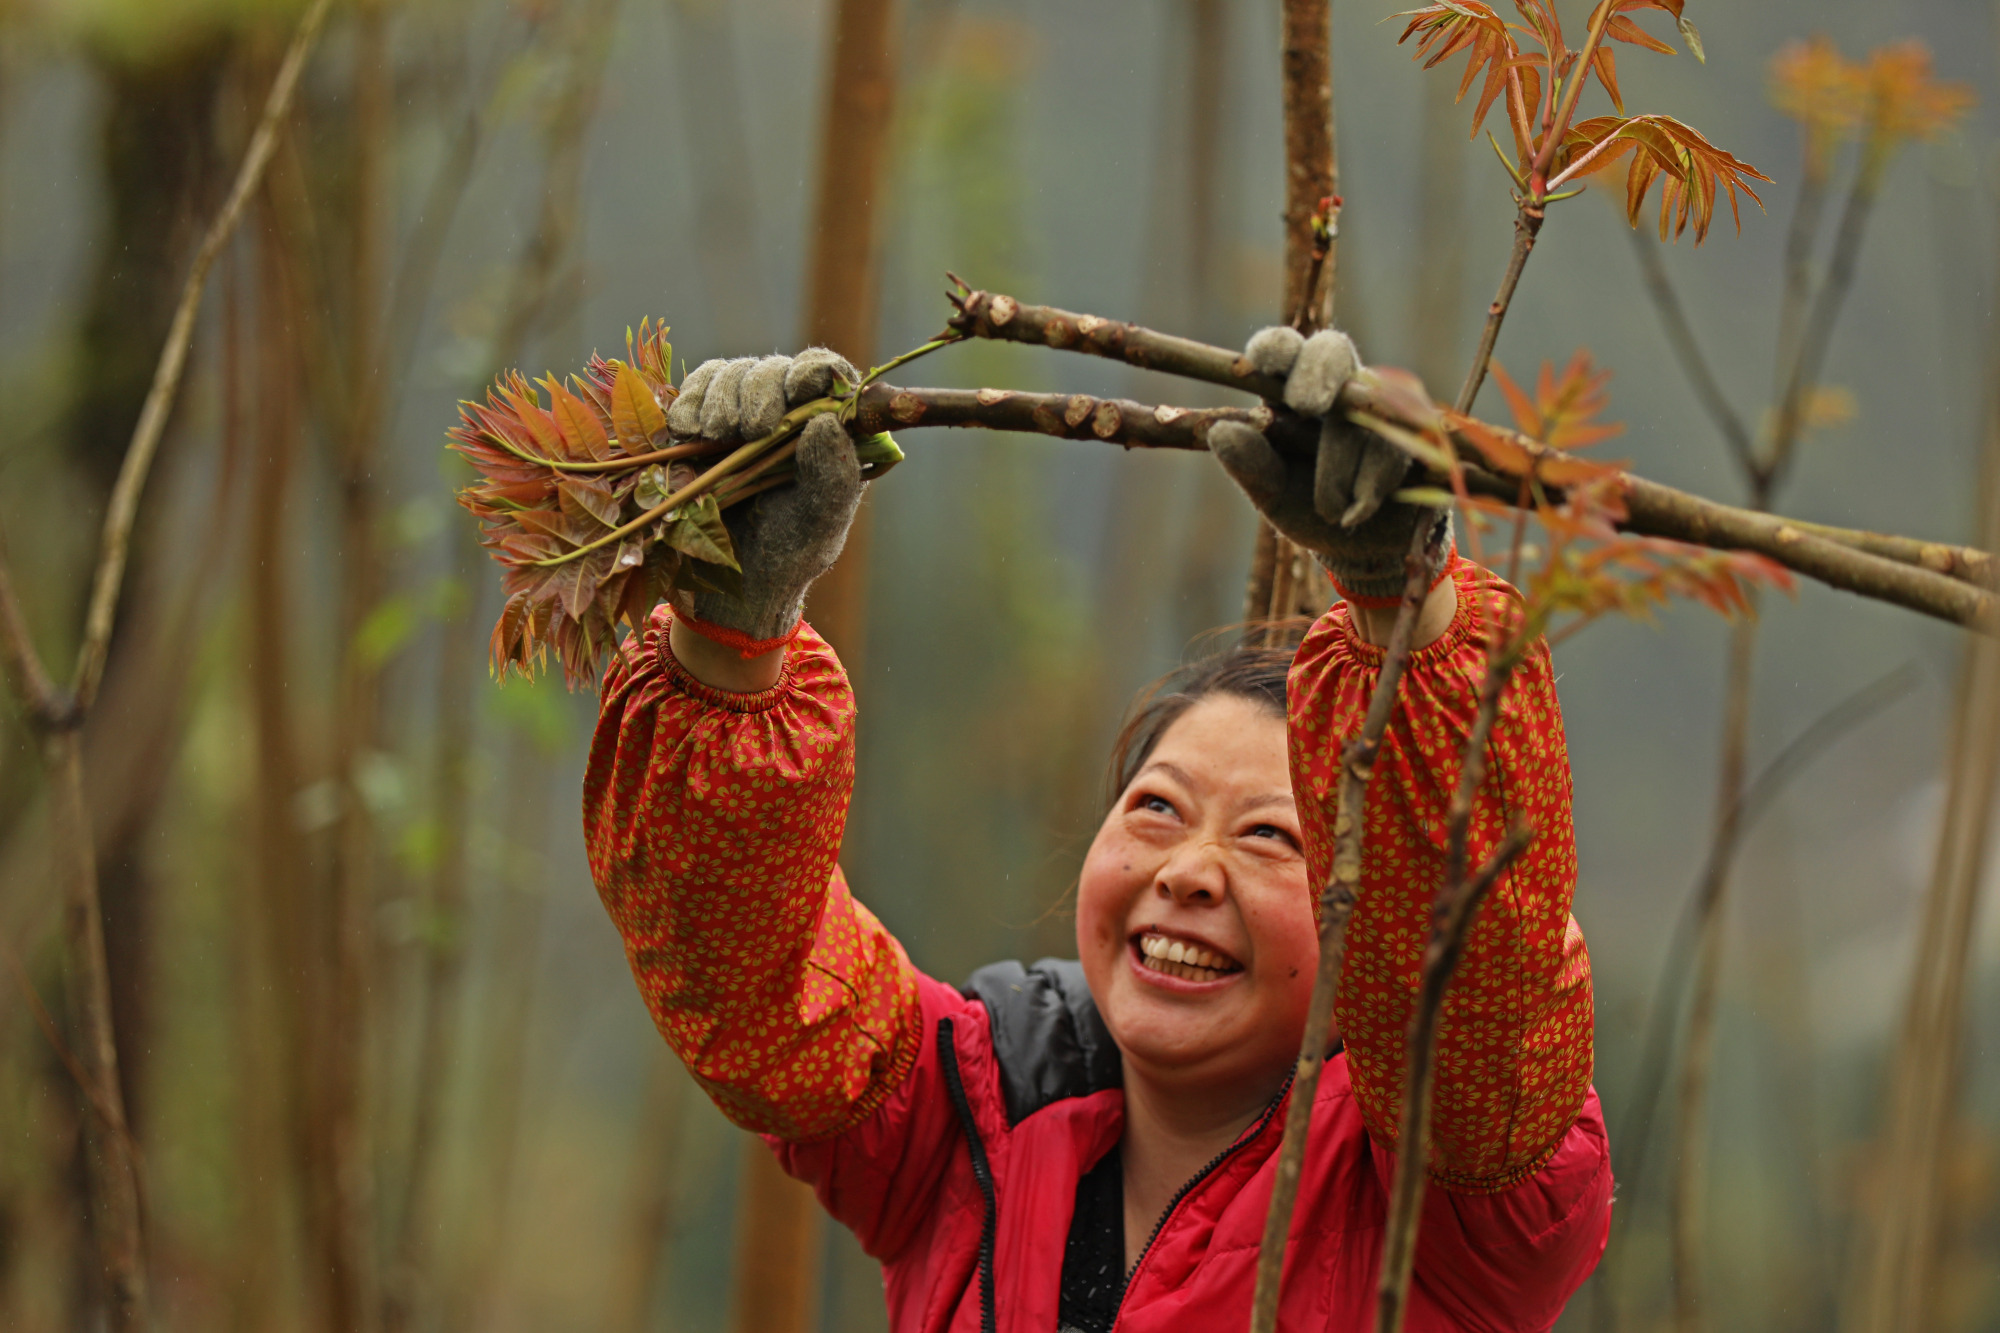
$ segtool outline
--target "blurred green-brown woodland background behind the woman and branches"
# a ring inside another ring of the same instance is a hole
[[[56,660],[192,238],[300,8],[0,6],[0,518]],[[1512,206],[1452,80],[1380,24],[1390,8],[1334,4],[1338,312],[1372,360],[1436,390],[1462,372]],[[496,368],[576,366],[642,314],[674,324],[690,364],[796,342],[830,10],[336,10],[212,282],[86,735],[160,1329],[730,1325],[738,1135],[664,1059],[590,889],[592,701],[482,671],[496,576],[440,442]],[[1990,94],[2000,20],[1984,0],[1690,16],[1706,66],[1628,60],[1622,82],[1778,178],[1740,238],[1664,254],[1754,418],[1802,172],[1798,128],[1766,100],[1770,58],[1810,32],[1850,58],[1914,36],[1940,76]],[[896,24],[880,354],[940,326],[946,266],[1226,344],[1278,314],[1276,4],[906,0]],[[1854,412],[1808,442],[1788,512],[1972,536],[1996,388],[1996,128],[1984,96],[1892,168],[1832,348]],[[1542,234],[1500,358],[1526,378],[1578,346],[1618,372],[1630,430],[1606,448],[1742,498],[1596,198]],[[952,348],[914,378],[1208,400],[1010,344]],[[1484,406],[1502,410],[1494,390]],[[1240,616],[1252,516],[1198,456],[946,432],[904,448],[870,498],[844,859],[916,963],[958,979],[1068,953],[1110,733],[1134,689]],[[1674,610],[1558,656],[1616,1151],[1708,849],[1724,632]],[[1790,783],[1742,849],[1700,1219],[1716,1329],[1832,1325],[1854,1223],[1884,1189],[1884,1073],[1958,656],[1956,630],[1880,604],[1818,586],[1766,600],[1752,771],[1868,681],[1914,662],[1920,685]],[[54,997],[38,765],[20,719],[0,735],[0,941]],[[322,947],[340,887],[366,905],[352,1011],[328,1007]],[[1976,931],[1940,1329],[2000,1329],[2000,925],[1984,913]],[[4,995],[0,1327],[94,1327],[80,1105],[22,991]],[[330,1079],[326,1051],[350,1039],[356,1077]],[[330,1083],[358,1089],[372,1179],[346,1215],[320,1189]],[[1562,1327],[1610,1327],[1606,1285],[1624,1327],[1664,1323],[1664,1171],[1648,1179],[1622,1199],[1618,1263]],[[348,1319],[320,1259],[344,1225],[372,1273]],[[870,1261],[832,1229],[824,1245],[818,1325],[882,1327]]]

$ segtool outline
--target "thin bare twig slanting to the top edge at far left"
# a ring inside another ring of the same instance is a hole
[[[188,280],[180,288],[180,304],[166,330],[166,346],[160,348],[160,364],[152,372],[152,388],[146,390],[146,404],[140,408],[138,426],[126,446],[124,464],[112,486],[110,504],[104,510],[104,536],[98,550],[96,576],[90,580],[90,610],[84,616],[84,646],[76,656],[76,675],[70,681],[74,707],[84,713],[104,679],[104,654],[112,640],[112,620],[118,614],[118,588],[124,584],[126,552],[132,542],[132,520],[138,516],[138,496],[146,488],[146,474],[152,470],[166,418],[174,410],[174,396],[180,390],[180,376],[188,368],[188,350],[194,344],[194,316],[202,308],[202,292],[208,286],[208,270],[214,266],[222,246],[228,244],[242,220],[244,204],[256,192],[270,166],[270,156],[278,146],[278,126],[292,108],[292,94],[298,90],[300,70],[306,68],[306,54],[320,36],[332,0],[314,0],[312,8],[292,34],[292,46],[284,52],[278,78],[272,80],[270,96],[264,98],[264,114],[258,118],[250,148],[242,166],[236,168],[236,184],[222,204],[222,212],[208,224],[194,262],[188,266]]]

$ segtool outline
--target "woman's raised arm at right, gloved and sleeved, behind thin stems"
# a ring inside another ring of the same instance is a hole
[[[1266,330],[1246,356],[1286,374],[1286,400],[1324,412],[1354,370],[1342,334]],[[1450,554],[1436,510],[1394,498],[1408,470],[1386,440],[1330,420],[1312,456],[1280,454],[1246,426],[1210,432],[1222,466],[1280,532],[1312,550],[1346,604],[1306,636],[1288,683],[1292,793],[1306,863],[1324,885],[1334,855],[1342,747],[1360,733],[1382,669],[1382,630],[1422,524],[1432,594],[1420,644],[1368,787],[1362,883],[1346,929],[1334,1019],[1352,1097],[1388,1189],[1398,1143],[1410,1015],[1444,879],[1446,813],[1484,679],[1484,640],[1512,596]],[[1356,612],[1374,632],[1356,632]],[[1604,1251],[1612,1173],[1590,1091],[1590,963],[1570,919],[1576,845],[1570,763],[1548,648],[1502,699],[1476,793],[1470,857],[1486,861],[1510,821],[1534,827],[1526,857],[1488,895],[1440,1015],[1416,1283],[1454,1327],[1548,1327]]]

